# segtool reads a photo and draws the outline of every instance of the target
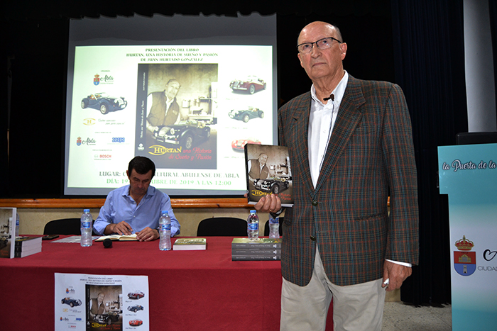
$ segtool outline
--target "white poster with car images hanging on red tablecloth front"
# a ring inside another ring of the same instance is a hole
[[[55,330],[149,330],[148,276],[55,273]]]

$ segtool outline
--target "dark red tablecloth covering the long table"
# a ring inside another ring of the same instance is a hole
[[[11,307],[0,310],[1,329],[53,330],[60,272],[148,276],[151,330],[279,330],[280,262],[232,262],[232,239],[207,237],[204,251],[169,252],[158,241],[110,249],[43,242],[38,254],[0,259],[0,293]]]

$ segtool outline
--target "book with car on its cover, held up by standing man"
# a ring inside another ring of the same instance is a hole
[[[288,147],[245,145],[247,197],[255,205],[262,196],[276,194],[281,206],[293,206],[292,168]]]

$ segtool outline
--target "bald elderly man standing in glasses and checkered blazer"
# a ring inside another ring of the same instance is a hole
[[[381,330],[386,291],[418,262],[408,107],[399,86],[344,71],[336,26],[305,26],[297,51],[312,86],[278,112],[295,202],[283,223],[280,328],[324,330],[333,299],[335,330]],[[280,201],[266,196],[256,208],[280,212]]]

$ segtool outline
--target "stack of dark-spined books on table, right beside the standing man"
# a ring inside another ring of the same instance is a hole
[[[281,238],[233,238],[231,261],[280,261]]]

